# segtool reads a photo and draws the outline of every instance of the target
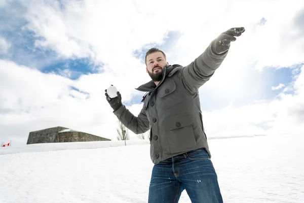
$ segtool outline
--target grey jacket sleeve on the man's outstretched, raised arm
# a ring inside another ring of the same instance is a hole
[[[181,74],[183,86],[186,90],[194,94],[204,83],[206,83],[220,66],[227,55],[227,51],[221,55],[215,54],[211,50],[212,41],[207,49],[192,63],[185,66]]]

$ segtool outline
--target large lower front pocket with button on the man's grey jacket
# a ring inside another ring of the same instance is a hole
[[[171,153],[197,148],[190,114],[178,114],[165,118],[165,127]]]

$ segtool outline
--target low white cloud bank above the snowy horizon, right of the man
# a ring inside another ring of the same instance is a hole
[[[304,132],[304,66],[290,85],[295,94],[280,93],[272,101],[257,101],[239,108],[229,105],[203,112],[209,136],[289,134]]]

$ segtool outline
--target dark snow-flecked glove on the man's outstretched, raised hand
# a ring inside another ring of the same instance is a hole
[[[229,50],[230,43],[237,40],[235,37],[239,37],[245,31],[244,27],[231,28],[221,33],[213,42],[212,51],[215,54],[223,54]]]

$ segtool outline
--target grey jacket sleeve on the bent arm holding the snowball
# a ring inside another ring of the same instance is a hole
[[[138,116],[134,116],[125,105],[122,105],[117,111],[113,112],[117,118],[135,134],[144,133],[149,130],[149,121],[147,115],[142,109]]]

